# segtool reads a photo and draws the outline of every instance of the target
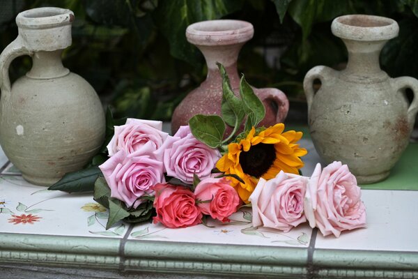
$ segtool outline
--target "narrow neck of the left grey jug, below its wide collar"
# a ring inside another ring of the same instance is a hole
[[[61,61],[62,52],[63,50],[34,52],[32,56],[32,68],[26,73],[26,77],[37,80],[46,80],[68,75],[70,70],[65,68]]]

